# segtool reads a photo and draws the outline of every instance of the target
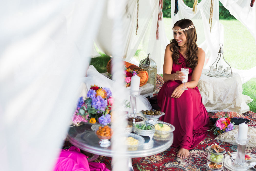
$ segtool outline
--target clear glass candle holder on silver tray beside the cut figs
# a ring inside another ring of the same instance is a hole
[[[238,134],[235,135],[237,145],[237,158],[231,163],[231,166],[236,170],[247,170],[249,169],[249,164],[245,162],[245,145],[251,138],[247,135],[247,140],[238,139]]]

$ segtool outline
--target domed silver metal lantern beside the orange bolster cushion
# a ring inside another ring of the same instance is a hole
[[[156,62],[150,58],[150,54],[147,55],[147,58],[140,61],[140,68],[144,69],[148,73],[147,83],[154,85],[154,90],[156,90],[156,74],[157,74],[157,65]]]

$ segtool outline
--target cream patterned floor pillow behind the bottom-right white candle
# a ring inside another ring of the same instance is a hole
[[[238,133],[238,126],[235,126],[235,129],[231,131],[224,132],[220,135],[218,135],[215,139],[221,140],[226,143],[230,143],[233,145],[237,145],[236,138],[234,137],[235,134]],[[248,126],[248,135],[251,135],[251,138],[249,139],[248,143],[246,144],[247,147],[256,147],[256,128]]]

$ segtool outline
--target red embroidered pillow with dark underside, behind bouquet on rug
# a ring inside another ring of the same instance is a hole
[[[214,115],[212,115],[210,117],[210,120],[213,123],[215,123],[219,117],[223,117],[226,114],[228,114],[228,116],[230,117],[231,123],[234,122],[235,125],[239,125],[240,123],[243,123],[243,122],[247,123],[250,121],[249,117],[239,114],[237,112],[218,112],[218,113],[215,113]]]

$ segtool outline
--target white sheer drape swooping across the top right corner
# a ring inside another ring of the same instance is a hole
[[[256,7],[251,7],[251,0],[220,0],[236,19],[238,19],[252,34],[256,43]]]

